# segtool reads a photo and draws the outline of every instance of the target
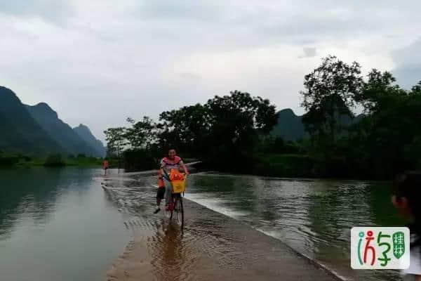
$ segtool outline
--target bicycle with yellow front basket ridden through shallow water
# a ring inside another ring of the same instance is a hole
[[[172,185],[172,193],[171,193],[171,203],[168,205],[168,209],[166,208],[165,214],[166,217],[173,219],[173,214],[175,212],[175,217],[179,225],[184,225],[184,207],[182,204],[182,197],[185,193],[185,182],[187,180],[187,175],[183,174],[184,178],[182,180],[172,180],[168,174],[166,174],[166,179]]]

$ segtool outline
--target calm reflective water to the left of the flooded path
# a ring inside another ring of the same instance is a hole
[[[130,236],[101,173],[0,170],[0,280],[105,280]]]

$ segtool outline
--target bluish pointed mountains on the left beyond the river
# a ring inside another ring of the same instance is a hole
[[[89,131],[89,129],[88,129]],[[46,103],[24,105],[18,96],[0,86],[0,150],[27,155],[51,153],[105,156],[104,145],[95,139],[95,145],[85,141],[65,122],[58,118]]]

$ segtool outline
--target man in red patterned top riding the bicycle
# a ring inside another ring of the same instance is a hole
[[[185,174],[189,174],[187,166],[182,162],[182,159],[177,156],[177,153],[174,149],[168,150],[168,157],[163,157],[161,160],[161,166],[158,173],[158,190],[156,191],[156,209],[154,214],[161,211],[160,205],[161,200],[163,200],[165,195],[166,209],[168,209],[168,204],[171,202],[171,195],[173,193],[171,184],[165,184],[164,175],[168,177],[171,169],[178,171],[184,171]],[[168,178],[166,178],[168,180]]]

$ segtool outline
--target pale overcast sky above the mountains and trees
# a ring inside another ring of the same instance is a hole
[[[0,0],[0,85],[95,136],[232,90],[302,114],[332,54],[421,79],[421,1]]]

